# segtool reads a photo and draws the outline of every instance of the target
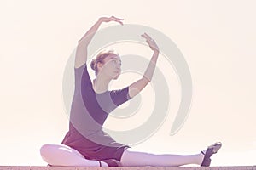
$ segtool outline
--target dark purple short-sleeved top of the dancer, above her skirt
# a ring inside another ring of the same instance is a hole
[[[102,130],[108,114],[131,99],[129,86],[97,94],[93,89],[86,64],[74,68],[74,73],[75,90],[70,111],[70,130],[79,130],[79,133],[87,136]]]

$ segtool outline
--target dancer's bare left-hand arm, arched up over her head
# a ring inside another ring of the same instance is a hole
[[[101,17],[96,21],[96,23],[90,28],[90,30],[87,31],[84,34],[84,36],[79,40],[79,44],[76,51],[76,57],[75,57],[75,68],[79,68],[81,65],[84,65],[84,63],[86,63],[88,45],[91,39],[96,34],[96,31],[101,26],[102,22],[116,21],[116,22],[119,22],[121,25],[123,25],[121,20],[123,19],[119,19],[112,16],[112,17]]]

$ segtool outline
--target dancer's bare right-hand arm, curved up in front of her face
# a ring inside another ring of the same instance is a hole
[[[145,71],[143,77],[137,80],[137,82],[133,82],[129,86],[129,96],[131,98],[140,93],[143,90],[143,88],[147,86],[148,82],[151,81],[155,70],[156,61],[159,55],[159,48],[157,44],[154,42],[154,40],[151,37],[149,37],[148,34],[146,33],[144,33],[142,37],[146,39],[146,42],[148,43],[149,47],[154,51],[154,54],[150,59],[147,70]]]

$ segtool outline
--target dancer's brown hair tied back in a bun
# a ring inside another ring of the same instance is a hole
[[[106,59],[106,57],[108,57],[109,54],[116,54],[119,55],[116,51],[112,50],[108,50],[108,51],[102,51],[99,54],[97,54],[96,59],[92,59],[90,62],[90,67],[92,70],[95,71],[95,74],[98,74],[98,67],[97,64],[98,63],[102,63],[104,64],[104,59]]]

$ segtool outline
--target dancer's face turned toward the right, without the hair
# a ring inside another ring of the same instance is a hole
[[[110,54],[104,59],[104,64],[100,65],[100,72],[105,76],[116,80],[121,74],[121,59],[119,55]]]

